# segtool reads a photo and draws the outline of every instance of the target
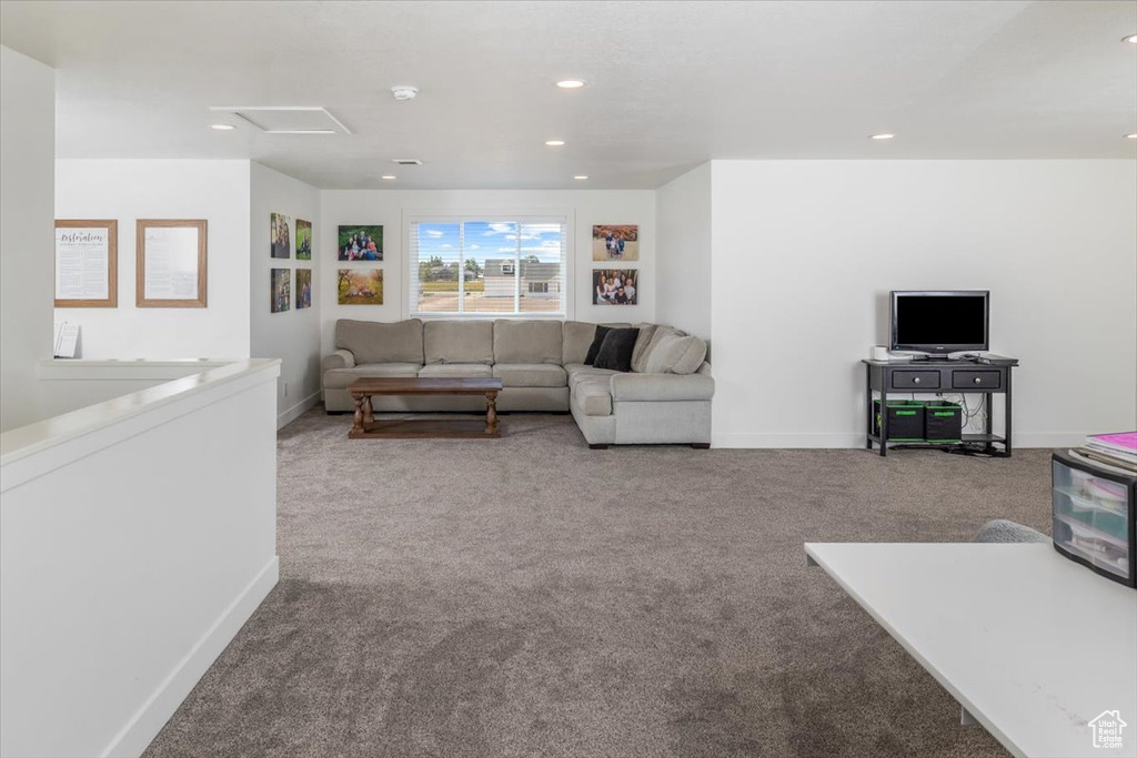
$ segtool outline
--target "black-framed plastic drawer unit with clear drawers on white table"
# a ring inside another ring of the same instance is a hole
[[[1062,452],[1051,457],[1054,549],[1102,576],[1137,586],[1137,475]]]

